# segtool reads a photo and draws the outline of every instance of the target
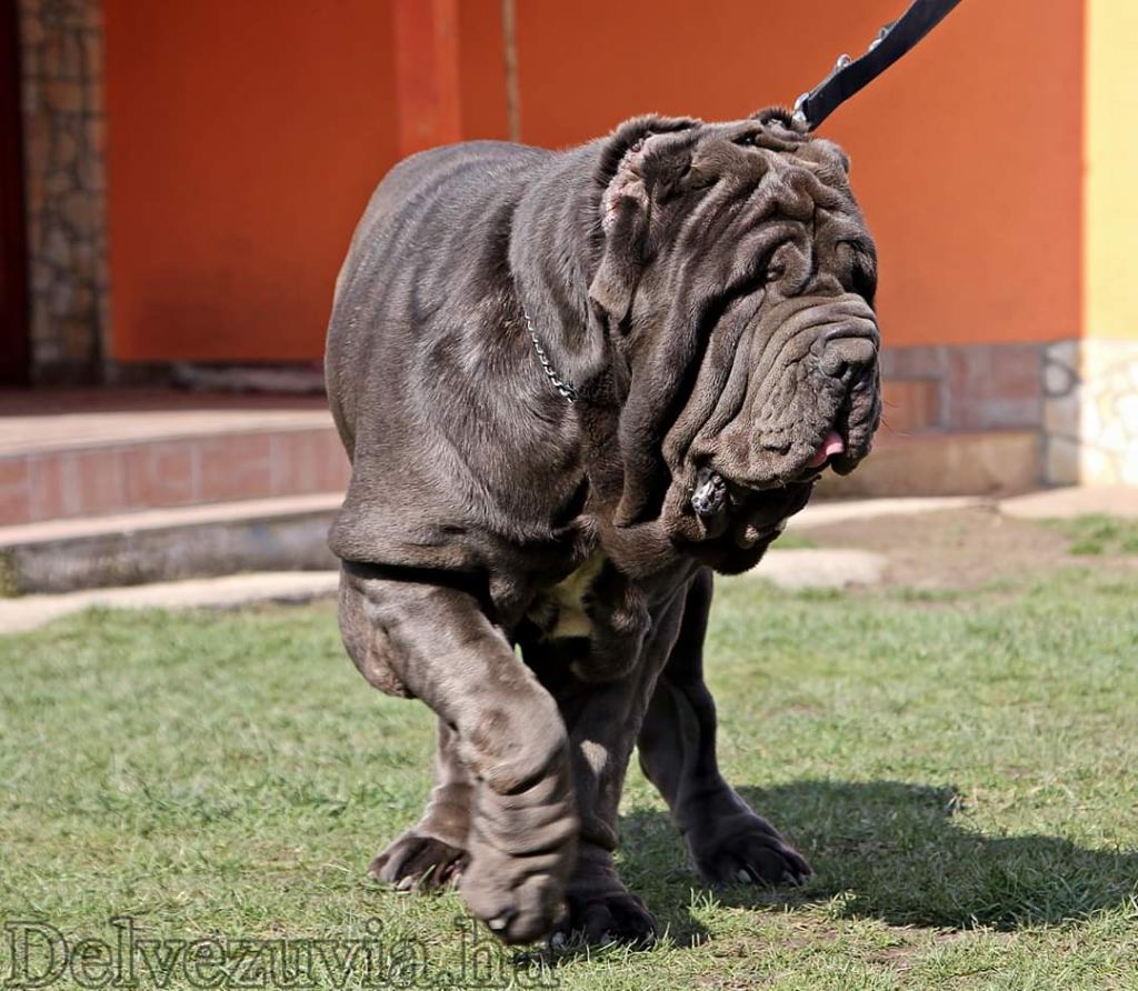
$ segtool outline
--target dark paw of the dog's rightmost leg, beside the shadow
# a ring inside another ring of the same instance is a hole
[[[806,858],[766,819],[732,818],[721,828],[690,837],[695,869],[712,884],[805,884],[814,873]]]

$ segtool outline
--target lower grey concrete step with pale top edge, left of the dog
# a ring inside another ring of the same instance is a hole
[[[0,595],[337,568],[327,534],[341,499],[330,492],[2,527]]]

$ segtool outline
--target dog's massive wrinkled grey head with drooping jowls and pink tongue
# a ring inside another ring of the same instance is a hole
[[[643,117],[597,182],[589,288],[624,405],[613,522],[749,567],[827,465],[847,473],[881,413],[876,256],[833,143],[781,110],[727,124]],[[691,510],[699,480],[727,509]]]

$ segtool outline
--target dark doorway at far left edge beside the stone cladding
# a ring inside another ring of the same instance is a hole
[[[0,386],[31,377],[17,0],[0,0]]]

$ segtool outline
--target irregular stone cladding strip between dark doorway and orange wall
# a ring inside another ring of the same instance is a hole
[[[101,3],[18,6],[33,374],[91,380],[108,325]]]

